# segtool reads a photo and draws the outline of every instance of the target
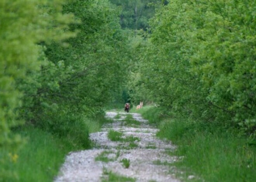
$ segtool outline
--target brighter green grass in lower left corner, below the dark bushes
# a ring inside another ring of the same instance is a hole
[[[19,132],[27,138],[26,144],[17,152],[17,161],[3,168],[14,171],[14,178],[0,181],[51,182],[64,162],[65,155],[74,149],[72,143],[40,129],[26,128]]]

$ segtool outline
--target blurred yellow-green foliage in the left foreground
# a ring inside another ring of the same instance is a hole
[[[10,133],[10,128],[24,122],[19,116],[19,107],[26,88],[19,80],[31,80],[27,73],[40,71],[44,64],[40,41],[61,41],[74,36],[67,25],[75,22],[73,15],[61,14],[62,3],[48,1],[1,1],[0,3],[0,165],[6,153],[13,156],[21,142],[19,136]],[[66,32],[64,33],[64,29]],[[22,90],[22,87],[24,88]],[[26,98],[28,101],[32,98]],[[9,175],[0,169],[0,177]]]

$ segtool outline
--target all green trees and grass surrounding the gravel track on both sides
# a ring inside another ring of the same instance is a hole
[[[144,116],[180,145],[183,167],[255,179],[255,10],[253,0],[2,0],[0,181],[52,180],[64,155],[91,147],[106,109],[141,100],[156,105]]]

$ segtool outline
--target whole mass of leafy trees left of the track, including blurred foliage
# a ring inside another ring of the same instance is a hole
[[[11,129],[24,122],[88,148],[85,117],[121,92],[127,40],[107,0],[1,1],[0,165],[17,157]]]

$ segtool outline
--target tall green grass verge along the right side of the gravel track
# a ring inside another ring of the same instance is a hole
[[[136,112],[158,126],[158,137],[178,146],[170,155],[184,158],[170,165],[184,172],[183,179],[195,175],[190,181],[255,181],[256,146],[236,129],[226,129],[221,122],[170,119],[161,108],[143,107]]]

